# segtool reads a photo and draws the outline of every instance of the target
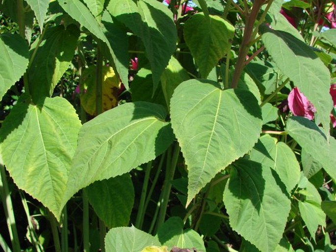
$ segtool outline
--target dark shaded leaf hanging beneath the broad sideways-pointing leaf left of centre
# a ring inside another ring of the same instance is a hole
[[[109,228],[129,225],[134,188],[129,174],[111,177],[85,187],[97,216]]]

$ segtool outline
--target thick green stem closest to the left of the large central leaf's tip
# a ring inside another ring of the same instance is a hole
[[[175,143],[175,149],[174,153],[172,156],[172,159],[169,160],[167,159],[167,168],[166,168],[166,177],[164,179],[163,183],[163,189],[162,189],[162,199],[161,199],[161,205],[160,205],[160,212],[158,215],[158,220],[156,223],[156,230],[164,223],[165,217],[166,217],[166,212],[167,212],[167,205],[169,201],[169,196],[170,196],[170,190],[172,188],[171,181],[174,178],[175,174],[175,168],[179,159],[179,153],[180,153],[180,146],[178,143]],[[169,157],[169,155],[168,155]],[[171,162],[169,162],[171,161]]]

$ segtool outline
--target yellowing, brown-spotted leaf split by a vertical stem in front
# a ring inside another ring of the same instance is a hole
[[[96,113],[96,67],[90,66],[83,72],[84,94],[80,95],[80,102],[90,115]],[[111,67],[103,66],[103,111],[118,104],[119,78]]]

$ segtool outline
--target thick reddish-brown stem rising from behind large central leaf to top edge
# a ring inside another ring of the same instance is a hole
[[[251,13],[246,16],[245,29],[243,40],[240,45],[238,60],[235,64],[234,74],[232,78],[232,88],[237,88],[238,80],[240,78],[241,73],[243,72],[245,65],[245,57],[250,49],[250,41],[254,38],[251,37],[254,23],[257,19],[259,10],[264,0],[255,0]]]

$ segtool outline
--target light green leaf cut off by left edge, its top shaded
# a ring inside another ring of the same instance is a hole
[[[18,34],[0,35],[0,99],[28,66],[28,45]]]

